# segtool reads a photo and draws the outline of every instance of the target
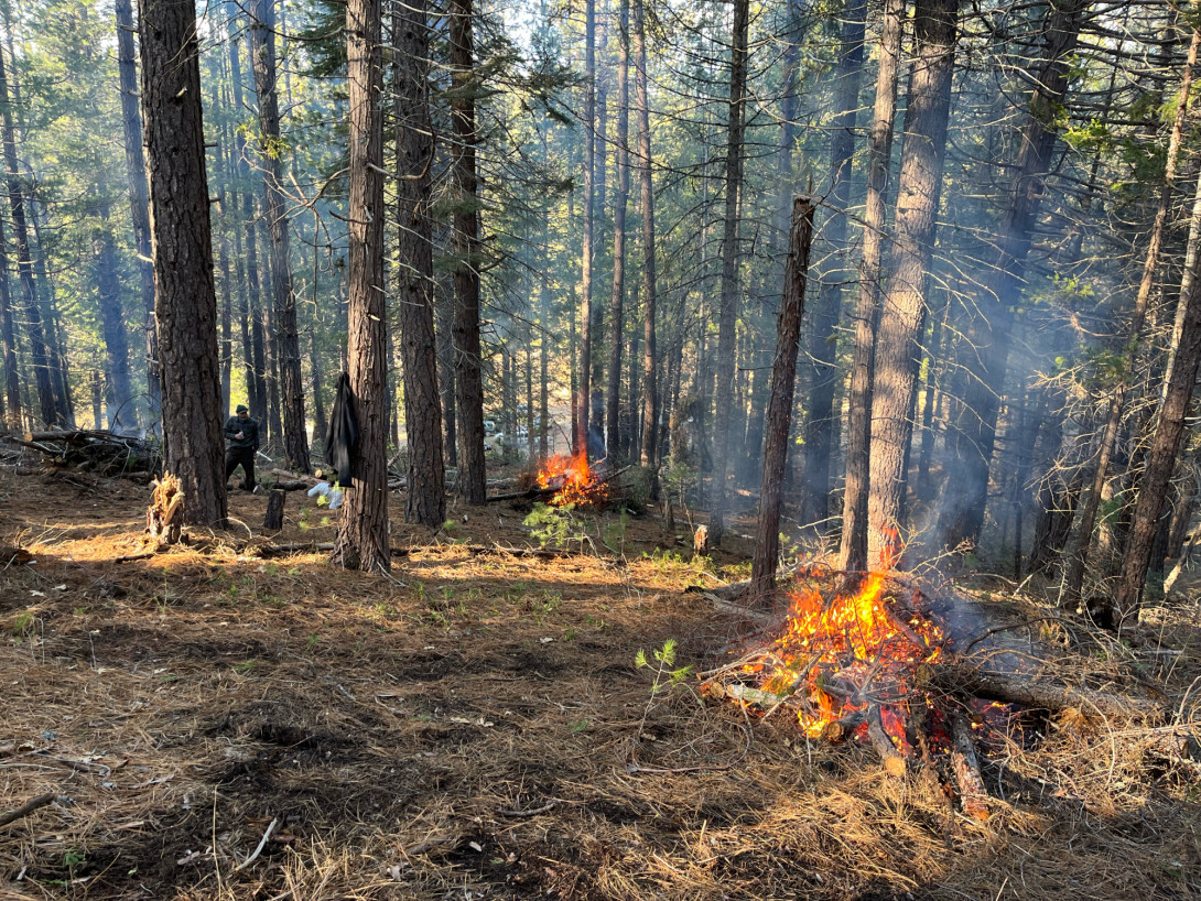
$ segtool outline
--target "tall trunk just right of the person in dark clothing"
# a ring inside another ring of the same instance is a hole
[[[309,438],[305,434],[304,381],[300,377],[300,336],[292,290],[288,217],[283,205],[280,139],[280,101],[275,72],[275,0],[251,0],[251,59],[258,93],[259,156],[263,163],[263,211],[271,238],[271,293],[275,299],[275,360],[283,413],[283,457],[289,469],[307,472]]]

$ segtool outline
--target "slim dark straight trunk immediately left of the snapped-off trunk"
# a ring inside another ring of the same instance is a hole
[[[635,0],[638,2],[639,0]],[[730,34],[730,103],[725,137],[725,220],[722,231],[722,308],[717,329],[717,411],[713,441],[713,502],[709,539],[719,544],[725,531],[725,476],[729,471],[730,406],[739,318],[739,193],[742,190],[742,138],[746,115],[749,0],[734,0]]]

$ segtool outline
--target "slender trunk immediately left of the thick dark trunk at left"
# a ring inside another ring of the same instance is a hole
[[[142,308],[145,311],[147,394],[150,401],[150,422],[162,413],[162,388],[159,382],[159,333],[154,318],[154,262],[150,247],[150,189],[147,185],[147,162],[142,149],[142,111],[138,109],[137,48],[133,44],[133,6],[130,0],[116,0],[116,62],[121,89],[121,126],[125,132],[125,168],[130,178],[130,214],[133,219],[133,247],[138,279],[142,285]]]

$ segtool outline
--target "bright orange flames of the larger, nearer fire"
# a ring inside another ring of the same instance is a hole
[[[867,573],[855,593],[829,601],[811,589],[793,593],[785,628],[772,649],[779,664],[765,687],[801,694],[797,716],[809,736],[876,704],[885,732],[903,741],[913,673],[939,655],[938,626],[916,616],[906,622],[884,593],[900,544],[895,532],[886,538],[880,568]]]

